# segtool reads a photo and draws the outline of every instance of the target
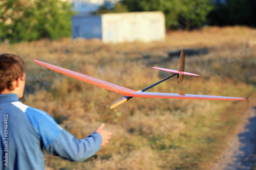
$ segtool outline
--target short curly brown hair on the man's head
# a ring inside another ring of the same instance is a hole
[[[24,61],[14,54],[0,55],[0,92],[14,90],[12,82],[24,74]]]

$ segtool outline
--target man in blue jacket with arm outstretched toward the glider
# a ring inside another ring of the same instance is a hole
[[[112,133],[101,124],[87,138],[76,139],[46,112],[19,102],[26,74],[24,62],[13,54],[0,55],[0,169],[45,169],[44,153],[83,161],[109,142]]]

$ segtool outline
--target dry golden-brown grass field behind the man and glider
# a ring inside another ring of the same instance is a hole
[[[163,42],[103,44],[70,38],[2,44],[2,53],[26,64],[22,101],[47,111],[78,139],[100,123],[113,132],[106,147],[83,162],[46,153],[47,169],[218,169],[236,125],[255,98],[246,101],[200,101],[134,98],[110,110],[120,94],[45,69],[33,59],[57,64],[114,84],[139,90],[168,76],[152,66],[177,69],[174,52],[189,49],[185,70],[201,75],[176,77],[149,91],[247,97],[255,96],[256,30],[205,27],[170,32]],[[205,53],[198,54],[201,49]]]

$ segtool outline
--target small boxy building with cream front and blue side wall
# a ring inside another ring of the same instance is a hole
[[[159,11],[73,16],[72,37],[103,42],[159,41],[165,38],[165,18]]]

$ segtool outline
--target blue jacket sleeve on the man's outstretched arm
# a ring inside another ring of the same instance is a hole
[[[78,140],[62,129],[46,112],[29,107],[26,111],[36,133],[41,136],[46,151],[70,161],[82,161],[100,149],[102,138],[94,133]]]

